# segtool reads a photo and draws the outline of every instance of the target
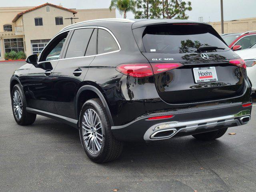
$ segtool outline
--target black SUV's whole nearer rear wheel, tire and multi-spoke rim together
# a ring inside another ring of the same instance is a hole
[[[120,156],[123,144],[112,135],[111,125],[100,99],[94,98],[84,103],[78,124],[82,146],[92,161],[109,162]]]

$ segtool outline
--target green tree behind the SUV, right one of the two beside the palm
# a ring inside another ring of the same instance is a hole
[[[190,1],[162,0],[162,18],[188,19],[186,10],[192,10]]]

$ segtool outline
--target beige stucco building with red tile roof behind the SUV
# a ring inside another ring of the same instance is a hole
[[[48,41],[72,22],[116,18],[115,10],[67,9],[53,4],[37,7],[0,8],[0,59],[5,52],[24,51],[27,55],[42,51]]]

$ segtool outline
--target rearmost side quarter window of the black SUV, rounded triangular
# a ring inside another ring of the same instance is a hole
[[[113,36],[103,29],[98,29],[98,54],[119,50]]]

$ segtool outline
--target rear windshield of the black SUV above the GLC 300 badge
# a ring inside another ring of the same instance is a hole
[[[147,26],[142,42],[146,52],[155,53],[195,53],[199,46],[225,48],[217,52],[229,50],[218,33],[205,24]]]

